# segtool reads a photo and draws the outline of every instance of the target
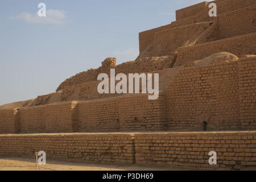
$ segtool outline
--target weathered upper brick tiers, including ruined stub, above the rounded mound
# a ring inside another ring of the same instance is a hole
[[[212,2],[217,4],[217,17],[209,17],[208,5],[211,2],[202,2],[177,10],[175,22],[139,33],[141,55],[136,61],[116,65],[114,58],[108,58],[102,62],[100,68],[89,69],[68,78],[57,90],[64,89],[65,86],[96,81],[100,73],[109,74],[110,68],[115,68],[116,73],[142,73],[177,67],[187,61],[203,59],[216,52],[226,51],[237,56],[254,54],[256,39],[255,34],[250,33],[256,31],[256,1]],[[150,46],[151,51],[144,53]],[[167,55],[170,57],[162,57]],[[160,59],[155,59],[155,56]],[[65,88],[67,89],[70,88]],[[89,92],[90,89],[84,90]],[[47,97],[43,97],[42,102],[47,100]]]

